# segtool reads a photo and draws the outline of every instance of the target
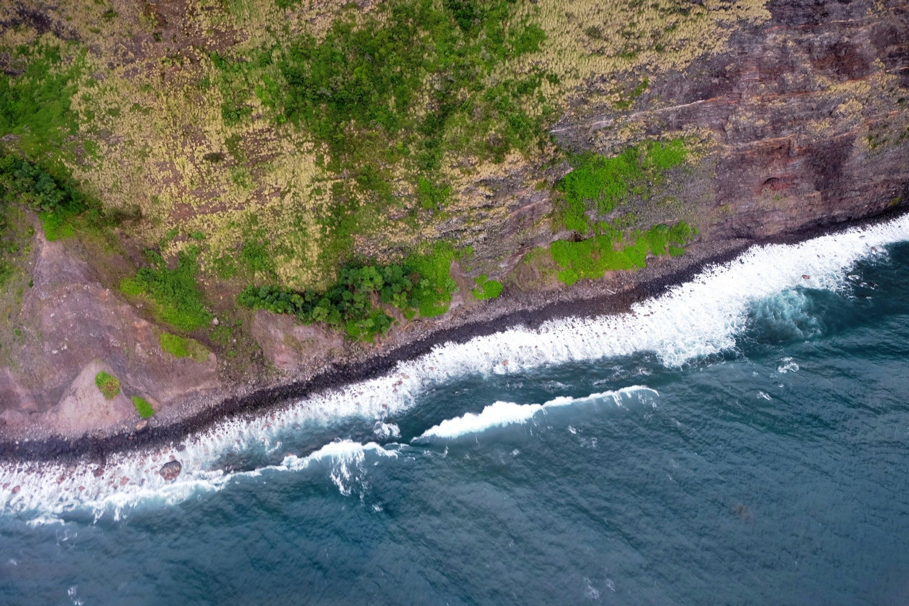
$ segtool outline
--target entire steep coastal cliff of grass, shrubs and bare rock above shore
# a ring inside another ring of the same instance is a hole
[[[6,440],[211,420],[909,202],[892,2],[17,2],[0,27]]]

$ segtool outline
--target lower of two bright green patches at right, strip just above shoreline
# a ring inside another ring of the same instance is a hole
[[[580,242],[557,240],[549,251],[562,269],[559,280],[570,285],[584,278],[602,278],[607,271],[644,268],[647,253],[682,254],[682,246],[692,234],[691,227],[684,222],[654,225],[646,232],[632,233],[626,240],[617,232],[594,235]]]

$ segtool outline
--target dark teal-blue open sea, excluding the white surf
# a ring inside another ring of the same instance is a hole
[[[388,420],[396,456],[119,520],[0,516],[0,603],[907,603],[909,244],[853,272],[848,292],[754,302],[734,349],[683,367],[640,353],[445,382]],[[629,385],[658,395],[584,399]],[[557,396],[579,400],[411,442]]]

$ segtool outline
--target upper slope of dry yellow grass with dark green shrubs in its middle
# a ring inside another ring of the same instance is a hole
[[[63,3],[82,44],[25,26],[0,39],[28,65],[16,82],[56,61],[64,83],[34,87],[72,93],[33,113],[43,130],[20,144],[35,154],[33,140],[60,146],[75,128],[60,160],[105,205],[139,207],[132,236],[177,230],[166,254],[204,233],[205,268],[265,242],[295,288],[326,286],[354,250],[393,260],[452,215],[469,221],[464,190],[551,157],[545,126],[588,75],[684,66],[724,25],[763,15],[758,2],[713,15],[667,0],[143,6]],[[61,59],[29,60],[52,44]],[[591,101],[634,94],[620,89]],[[21,133],[14,120],[5,130]]]

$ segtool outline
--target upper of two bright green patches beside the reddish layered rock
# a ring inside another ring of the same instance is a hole
[[[612,158],[575,154],[570,158],[574,170],[556,184],[564,194],[561,223],[571,231],[588,233],[589,211],[606,214],[632,194],[648,194],[652,185],[662,182],[664,172],[682,164],[686,156],[682,139],[636,145]]]

